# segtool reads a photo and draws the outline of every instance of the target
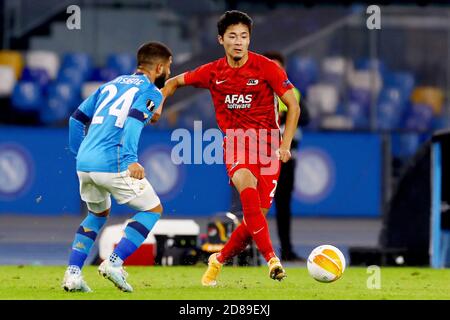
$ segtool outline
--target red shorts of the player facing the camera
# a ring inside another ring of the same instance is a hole
[[[227,158],[226,149],[224,148],[224,160],[227,174],[230,178],[230,184],[232,184],[231,179],[237,170],[242,168],[250,170],[258,180],[257,190],[261,200],[261,208],[269,209],[275,197],[278,177],[280,176],[281,161],[275,159],[270,161],[266,159],[264,162],[258,160],[249,161],[249,153],[248,151],[245,152],[247,161],[243,161],[242,154],[238,158],[236,151]]]

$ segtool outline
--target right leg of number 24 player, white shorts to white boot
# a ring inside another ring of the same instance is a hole
[[[124,179],[124,183],[125,186],[120,182],[116,183],[115,187],[111,189],[112,194],[119,203],[127,204],[137,213],[125,227],[124,236],[113,253],[99,266],[99,273],[112,281],[120,290],[132,292],[132,286],[126,281],[128,274],[123,269],[123,263],[145,241],[160,219],[163,208],[159,197],[147,179],[137,180],[127,177]],[[127,188],[134,194],[126,192]],[[131,200],[129,200],[129,194],[132,195]]]

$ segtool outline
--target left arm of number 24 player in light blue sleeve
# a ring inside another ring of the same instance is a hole
[[[69,149],[75,155],[86,136],[86,127],[94,114],[97,95],[98,90],[84,100],[69,118]]]

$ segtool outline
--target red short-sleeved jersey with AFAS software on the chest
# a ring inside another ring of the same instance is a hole
[[[279,129],[275,94],[281,97],[293,88],[282,68],[250,51],[239,68],[230,67],[223,57],[187,72],[184,82],[209,89],[224,133],[227,129]]]

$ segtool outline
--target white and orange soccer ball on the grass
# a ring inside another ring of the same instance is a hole
[[[307,265],[309,274],[317,281],[333,282],[344,273],[345,258],[338,248],[323,245],[311,252]]]

